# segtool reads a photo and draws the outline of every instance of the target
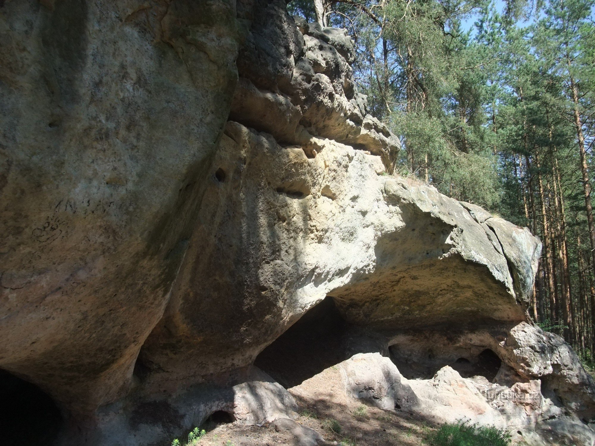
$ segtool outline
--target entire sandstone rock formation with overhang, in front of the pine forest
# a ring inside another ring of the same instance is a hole
[[[325,299],[330,356],[392,359],[387,410],[439,411],[418,374],[593,444],[593,381],[527,314],[540,242],[392,176],[344,30],[278,0],[8,0],[0,36],[0,368],[55,401],[56,444],[292,418],[253,364]],[[489,397],[511,389],[539,402]]]

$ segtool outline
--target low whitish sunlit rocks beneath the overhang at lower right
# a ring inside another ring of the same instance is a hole
[[[521,329],[540,334],[537,328]],[[515,444],[594,442],[593,430],[575,413],[563,413],[551,389],[534,375],[514,384],[499,376],[490,383],[485,376],[463,378],[444,366],[430,379],[406,379],[378,353],[357,354],[338,367],[347,394],[384,410],[416,413],[442,423],[467,419],[496,426],[510,432]]]

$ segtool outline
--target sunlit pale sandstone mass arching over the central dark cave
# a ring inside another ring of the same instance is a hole
[[[378,156],[310,144],[314,158],[228,123],[214,158],[221,180],[206,186],[164,318],[139,356],[145,385],[248,366],[326,296],[347,321],[379,330],[525,320],[501,250],[456,200],[382,175]]]

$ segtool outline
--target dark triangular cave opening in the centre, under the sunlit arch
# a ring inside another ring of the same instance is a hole
[[[256,357],[254,365],[285,388],[346,360],[347,322],[332,297],[312,307]]]

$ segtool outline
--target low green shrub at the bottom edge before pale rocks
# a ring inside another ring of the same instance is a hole
[[[480,426],[461,420],[446,423],[427,438],[434,446],[508,446],[511,436],[494,426]]]

